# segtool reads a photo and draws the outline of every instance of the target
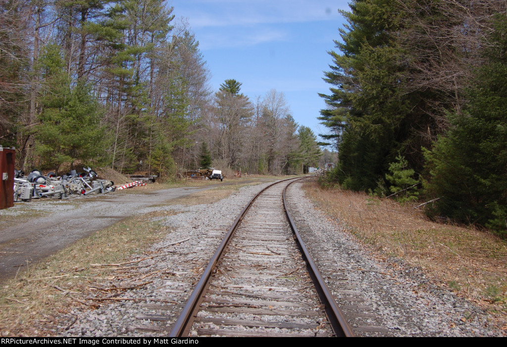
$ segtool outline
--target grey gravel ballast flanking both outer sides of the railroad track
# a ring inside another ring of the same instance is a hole
[[[102,305],[96,310],[76,306],[60,317],[54,333],[166,336],[236,216],[268,184],[245,186],[212,204],[170,206],[177,214],[160,220],[172,233],[137,255],[156,257],[142,260],[132,270],[156,274],[138,280],[150,283],[123,291],[111,303],[98,301]],[[343,225],[318,210],[305,197],[301,183],[289,188],[288,202],[308,249],[358,336],[502,336],[488,327],[490,317],[473,303],[430,284],[418,269],[399,259],[386,262],[376,257]],[[132,284],[118,277],[103,286]]]

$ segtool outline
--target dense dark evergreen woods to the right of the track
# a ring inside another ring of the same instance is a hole
[[[507,233],[507,2],[356,0],[321,94],[343,188]]]

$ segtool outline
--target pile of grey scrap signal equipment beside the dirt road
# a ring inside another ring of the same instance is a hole
[[[99,179],[92,169],[83,168],[83,170],[81,173],[71,170],[59,177],[54,172],[44,176],[39,170],[32,170],[25,176],[23,171],[15,170],[14,201],[28,201],[43,197],[67,199],[71,195],[86,196],[93,192],[105,194],[117,189],[113,181]]]

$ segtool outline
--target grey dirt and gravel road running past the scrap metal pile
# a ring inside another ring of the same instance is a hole
[[[263,179],[241,183],[259,181]],[[128,189],[64,201],[19,203],[0,210],[0,280],[126,217],[151,212],[170,200],[228,184],[234,182],[155,191]]]

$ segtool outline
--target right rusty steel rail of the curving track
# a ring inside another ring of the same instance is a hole
[[[306,178],[306,177],[305,177]],[[315,284],[315,288],[317,290],[318,296],[321,302],[324,304],[325,313],[328,316],[328,320],[331,324],[331,328],[335,332],[336,336],[340,337],[354,337],[354,333],[352,332],[351,326],[348,324],[345,316],[341,312],[338,307],[338,304],[335,301],[333,294],[331,293],[328,285],[325,283],[324,278],[320,274],[318,266],[313,261],[310,252],[306,248],[301,235],[298,232],[296,224],[291,216],[291,213],[288,212],[287,203],[285,200],[285,191],[287,187],[297,180],[292,181],[287,184],[287,186],[283,189],[283,208],[285,210],[285,214],[287,215],[287,219],[289,220],[289,224],[291,224],[291,228],[293,230],[294,235],[296,236],[296,243],[298,244],[301,253],[307,263],[308,273]]]

